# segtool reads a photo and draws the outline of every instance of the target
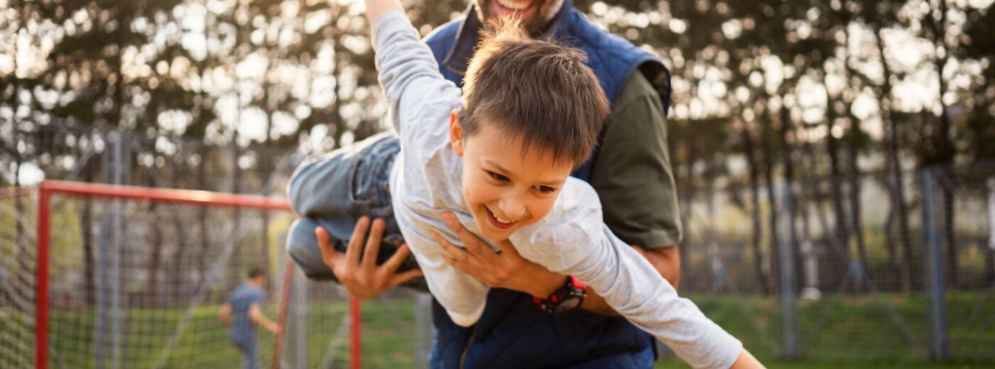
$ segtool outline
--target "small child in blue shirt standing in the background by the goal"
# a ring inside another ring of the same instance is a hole
[[[280,326],[263,315],[266,303],[266,271],[253,268],[247,279],[221,306],[218,315],[221,321],[231,325],[229,337],[235,348],[242,353],[243,369],[259,368],[259,345],[256,342],[256,325],[277,334]]]

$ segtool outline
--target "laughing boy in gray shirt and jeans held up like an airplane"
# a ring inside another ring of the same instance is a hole
[[[569,178],[608,116],[582,53],[520,31],[490,35],[461,97],[400,11],[396,0],[367,1],[398,137],[381,134],[305,162],[292,179],[289,197],[302,218],[289,248],[305,273],[327,270],[314,257],[313,236],[303,235],[315,225],[340,234],[357,214],[393,215],[388,235],[400,230],[433,295],[454,321],[472,325],[489,288],[446,265],[438,244],[459,243],[439,221],[445,219],[490,240],[509,240],[525,259],[587,282],[695,367],[759,366],[612,235],[593,189]],[[393,236],[388,244],[396,246]]]

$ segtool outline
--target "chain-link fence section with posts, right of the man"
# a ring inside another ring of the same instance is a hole
[[[995,361],[995,165],[894,178],[685,197],[682,293],[761,356]]]

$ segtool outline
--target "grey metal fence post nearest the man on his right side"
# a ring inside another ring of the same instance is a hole
[[[798,311],[795,293],[795,245],[798,239],[795,234],[795,227],[792,224],[794,217],[794,199],[791,182],[787,182],[784,188],[784,209],[787,210],[787,217],[781,217],[781,225],[784,228],[782,235],[787,233],[790,237],[781,238],[778,244],[778,279],[781,286],[781,356],[785,358],[797,358],[798,352]],[[773,210],[776,211],[776,210]]]

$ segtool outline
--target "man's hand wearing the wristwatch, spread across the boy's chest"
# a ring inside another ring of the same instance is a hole
[[[446,256],[446,263],[484,284],[545,298],[566,280],[566,276],[549,272],[542,266],[522,258],[507,240],[497,242],[500,253],[496,253],[477,235],[467,231],[453,213],[445,213],[443,221],[456,232],[467,247],[462,249],[454,246],[433,233],[432,238],[435,242],[449,253]]]

